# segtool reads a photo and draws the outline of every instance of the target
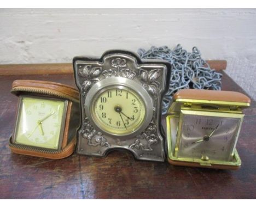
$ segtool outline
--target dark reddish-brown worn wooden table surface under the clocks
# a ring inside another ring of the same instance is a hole
[[[223,90],[243,90],[223,72]],[[245,110],[237,150],[239,170],[171,166],[136,161],[129,152],[105,158],[73,154],[62,160],[12,154],[17,97],[9,93],[15,79],[38,79],[74,86],[73,75],[0,76],[0,198],[78,199],[249,199],[256,198],[256,102]]]

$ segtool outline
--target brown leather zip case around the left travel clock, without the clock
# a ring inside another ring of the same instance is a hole
[[[38,97],[52,97],[67,100],[67,110],[65,125],[63,128],[63,138],[59,150],[38,148],[24,144],[16,144],[10,137],[9,148],[12,152],[22,155],[44,157],[50,159],[61,159],[73,154],[77,142],[76,130],[79,126],[79,93],[78,90],[65,84],[34,81],[34,80],[15,80],[12,85],[11,93],[19,95],[33,95]],[[18,108],[16,119],[18,119]]]

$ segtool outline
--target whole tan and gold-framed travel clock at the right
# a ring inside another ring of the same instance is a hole
[[[184,89],[166,117],[168,161],[174,165],[237,169],[236,143],[251,100],[232,91]]]

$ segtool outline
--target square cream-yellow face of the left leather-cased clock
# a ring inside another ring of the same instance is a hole
[[[58,149],[65,101],[21,97],[15,143]]]

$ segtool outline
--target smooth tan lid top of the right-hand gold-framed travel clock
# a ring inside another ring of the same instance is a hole
[[[251,99],[249,99],[248,96],[242,93],[237,93],[236,91],[218,91],[203,89],[179,90],[173,95],[173,100],[176,101],[177,99],[251,103]]]

